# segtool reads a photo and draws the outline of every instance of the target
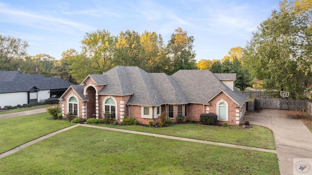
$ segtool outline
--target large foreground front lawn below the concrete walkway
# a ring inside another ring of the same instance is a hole
[[[0,174],[279,175],[272,153],[78,126],[3,157]]]

